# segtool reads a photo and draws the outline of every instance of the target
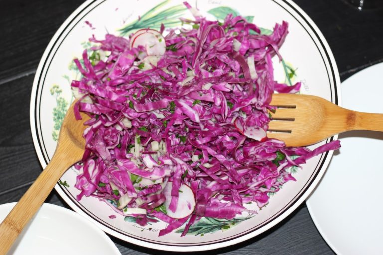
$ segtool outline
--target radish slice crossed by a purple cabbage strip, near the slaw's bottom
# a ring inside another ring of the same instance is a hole
[[[192,214],[195,208],[195,197],[192,189],[186,185],[181,184],[178,194],[178,202],[176,212],[169,209],[170,201],[172,200],[172,183],[168,182],[164,188],[163,194],[166,198],[164,205],[169,217],[174,219],[182,219]]]

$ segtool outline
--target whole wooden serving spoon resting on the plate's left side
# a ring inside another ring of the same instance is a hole
[[[12,247],[65,171],[82,159],[85,150],[82,135],[87,128],[84,122],[89,116],[81,113],[82,120],[77,121],[73,112],[75,103],[69,107],[62,122],[52,160],[0,225],[0,255],[5,255]]]

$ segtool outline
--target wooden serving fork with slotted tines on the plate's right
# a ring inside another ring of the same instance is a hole
[[[356,102],[358,103],[358,102]],[[310,95],[274,94],[267,137],[301,147],[351,130],[383,132],[383,114],[362,113],[342,108]]]

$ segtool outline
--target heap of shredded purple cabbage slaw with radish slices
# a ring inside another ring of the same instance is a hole
[[[75,60],[83,77],[71,85],[76,118],[92,117],[77,199],[97,197],[143,226],[162,220],[160,236],[187,223],[184,236],[201,217],[232,219],[250,202],[261,208],[295,180],[287,168],[340,147],[286,148],[266,136],[274,91],[301,86],[273,77],[286,22],[263,35],[241,16],[183,21],[191,28],[166,36],[162,27],[91,38],[99,46]]]

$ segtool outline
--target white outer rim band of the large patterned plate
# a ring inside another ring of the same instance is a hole
[[[31,125],[31,132],[32,132],[32,138],[33,138],[34,147],[35,147],[35,150],[36,150],[39,162],[40,162],[40,164],[42,165],[43,168],[46,167],[46,162],[45,162],[45,158],[44,158],[43,152],[41,151],[42,148],[39,145],[39,138],[38,138],[38,134],[37,134],[38,127],[37,127],[37,124],[35,122],[35,118],[36,118],[35,111],[37,111],[36,107],[35,107],[35,104],[36,104],[35,102],[36,102],[36,100],[39,97],[39,91],[37,89],[38,89],[38,85],[39,85],[39,76],[42,74],[42,71],[44,71],[44,69],[43,69],[44,61],[46,61],[50,57],[50,51],[54,47],[54,44],[56,43],[56,41],[60,39],[61,33],[65,32],[65,30],[68,27],[68,25],[70,25],[70,23],[77,17],[77,15],[80,14],[84,9],[90,7],[92,4],[99,4],[99,3],[104,2],[104,1],[106,1],[106,0],[87,0],[83,4],[81,4],[64,21],[64,23],[56,31],[56,33],[54,34],[53,38],[51,39],[51,41],[49,42],[48,46],[46,47],[46,49],[45,49],[45,51],[44,51],[44,53],[42,55],[42,58],[40,60],[40,63],[38,65],[38,68],[37,68],[37,71],[36,71],[36,74],[35,74],[35,77],[34,77],[34,81],[33,81],[32,92],[31,92],[30,125]],[[334,99],[336,100],[336,103],[340,105],[341,104],[341,93],[340,93],[340,77],[339,77],[338,68],[337,68],[334,56],[332,54],[332,51],[331,51],[327,41],[325,40],[324,36],[320,32],[319,28],[316,26],[316,24],[311,20],[311,18],[299,6],[297,6],[294,2],[292,2],[292,0],[270,0],[270,1],[273,1],[273,2],[277,3],[281,7],[283,7],[282,5],[284,5],[284,4],[287,5],[290,9],[293,10],[294,14],[300,15],[301,18],[304,20],[304,22],[305,22],[304,25],[308,26],[308,27],[304,27],[304,28],[305,29],[309,28],[310,32],[313,32],[316,35],[316,39],[319,41],[319,43],[322,46],[319,51],[321,52],[321,50],[323,50],[324,53],[326,54],[326,57],[327,57],[326,61],[328,61],[328,62],[324,61],[325,65],[326,65],[326,67],[327,66],[331,66],[331,68],[332,68],[332,72],[330,72],[330,73],[333,75],[333,77],[332,77],[333,79],[332,79],[332,81],[330,81],[330,84],[332,84],[332,82],[334,84],[332,85],[331,89],[334,89],[334,91],[335,91]],[[331,138],[331,140],[332,139],[337,139],[337,137],[338,137],[338,135],[333,136]],[[39,150],[39,148],[41,150]],[[136,238],[132,238],[132,237],[123,235],[123,234],[121,234],[119,232],[116,232],[116,231],[110,229],[109,227],[99,223],[98,221],[92,219],[91,216],[89,216],[87,213],[85,213],[79,207],[79,205],[75,204],[68,197],[68,195],[63,191],[63,189],[62,189],[62,187],[60,185],[56,184],[55,185],[55,190],[59,193],[59,195],[63,198],[63,200],[73,210],[75,210],[77,213],[85,216],[86,218],[88,218],[88,220],[90,219],[94,224],[96,224],[103,231],[105,231],[108,234],[110,234],[112,236],[115,236],[115,237],[117,237],[117,238],[119,238],[121,240],[124,240],[126,242],[130,242],[130,243],[133,243],[133,244],[136,244],[136,245],[140,245],[140,246],[143,246],[143,247],[148,247],[148,248],[152,248],[152,249],[154,248],[154,249],[159,249],[159,250],[166,250],[166,251],[180,251],[180,250],[185,250],[185,251],[204,251],[204,250],[211,250],[211,249],[221,248],[221,247],[225,247],[225,246],[230,246],[230,245],[233,245],[233,244],[237,244],[237,243],[243,242],[245,240],[248,240],[248,239],[250,239],[252,237],[255,237],[255,236],[259,235],[260,233],[265,232],[266,230],[274,227],[276,224],[278,224],[283,219],[285,219],[299,205],[301,205],[305,201],[305,199],[309,196],[309,194],[317,186],[317,184],[319,183],[320,179],[322,178],[323,174],[325,173],[325,171],[327,169],[327,166],[328,166],[328,164],[330,162],[332,154],[333,154],[333,151],[329,151],[329,152],[325,153],[325,157],[326,158],[322,161],[322,166],[318,169],[318,172],[313,177],[313,180],[311,181],[311,183],[308,185],[308,187],[306,187],[304,189],[302,194],[300,194],[299,198],[295,199],[294,202],[287,209],[285,209],[283,211],[283,213],[277,214],[277,216],[271,222],[266,223],[264,226],[260,227],[259,229],[250,231],[249,233],[245,233],[245,234],[243,234],[243,235],[241,235],[239,237],[234,237],[232,239],[224,240],[224,241],[221,241],[221,242],[218,241],[218,242],[215,242],[215,243],[212,243],[212,244],[182,245],[182,246],[164,245],[164,244],[158,244],[158,243],[151,243],[151,242],[147,242],[147,241],[143,241],[143,240],[140,240],[140,239],[136,239]],[[153,246],[155,246],[155,247],[153,247]]]

